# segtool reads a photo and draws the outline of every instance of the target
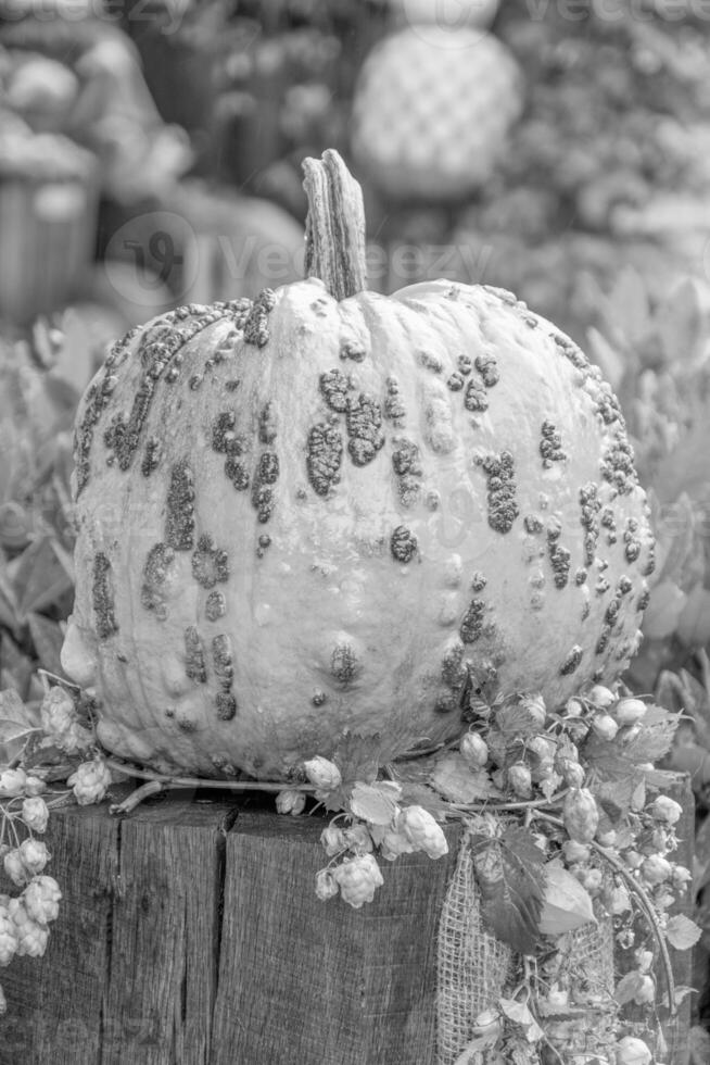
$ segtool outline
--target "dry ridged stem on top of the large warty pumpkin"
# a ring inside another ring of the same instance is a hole
[[[331,296],[344,300],[365,281],[363,191],[332,148],[320,159],[304,159],[306,277],[319,277]]]

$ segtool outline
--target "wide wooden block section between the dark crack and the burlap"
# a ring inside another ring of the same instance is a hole
[[[227,838],[213,1065],[430,1065],[454,854],[385,863],[375,902],[354,911],[315,895],[322,827],[245,814]]]

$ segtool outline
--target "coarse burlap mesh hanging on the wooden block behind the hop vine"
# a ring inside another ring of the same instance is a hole
[[[606,1056],[613,1045],[616,1008],[611,922],[599,919],[558,941],[560,983],[584,1005],[571,1016],[542,1020],[558,1054]],[[472,1039],[476,1018],[496,1008],[518,982],[520,957],[486,931],[471,857],[471,829],[461,836],[439,925],[436,986],[436,1065],[454,1065]],[[554,979],[555,977],[553,977]]]

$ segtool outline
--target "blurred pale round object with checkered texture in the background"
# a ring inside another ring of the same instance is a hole
[[[522,108],[518,65],[480,29],[411,26],[367,57],[353,154],[392,200],[458,199],[493,177]]]

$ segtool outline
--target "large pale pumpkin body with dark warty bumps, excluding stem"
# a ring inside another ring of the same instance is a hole
[[[558,706],[625,667],[652,569],[609,387],[448,281],[154,320],[84,399],[76,497],[65,668],[109,750],[201,775],[455,736],[469,676]]]

